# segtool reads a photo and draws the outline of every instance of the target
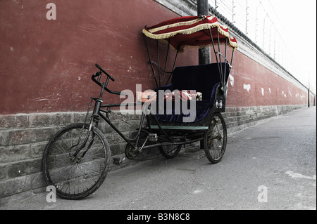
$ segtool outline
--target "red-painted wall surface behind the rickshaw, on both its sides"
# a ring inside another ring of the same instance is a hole
[[[56,20],[46,19],[50,2]],[[96,62],[116,79],[114,91],[155,88],[142,29],[177,16],[151,0],[0,1],[0,114],[85,111],[99,93]],[[197,50],[188,50],[177,65],[197,62]],[[234,66],[228,107],[307,104],[306,92],[242,53]]]

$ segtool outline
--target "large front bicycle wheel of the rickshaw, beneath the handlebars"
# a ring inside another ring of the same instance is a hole
[[[58,131],[46,145],[42,171],[47,185],[63,199],[82,199],[95,192],[106,179],[111,151],[104,134],[89,124],[71,124]],[[85,147],[71,157],[78,146]]]

